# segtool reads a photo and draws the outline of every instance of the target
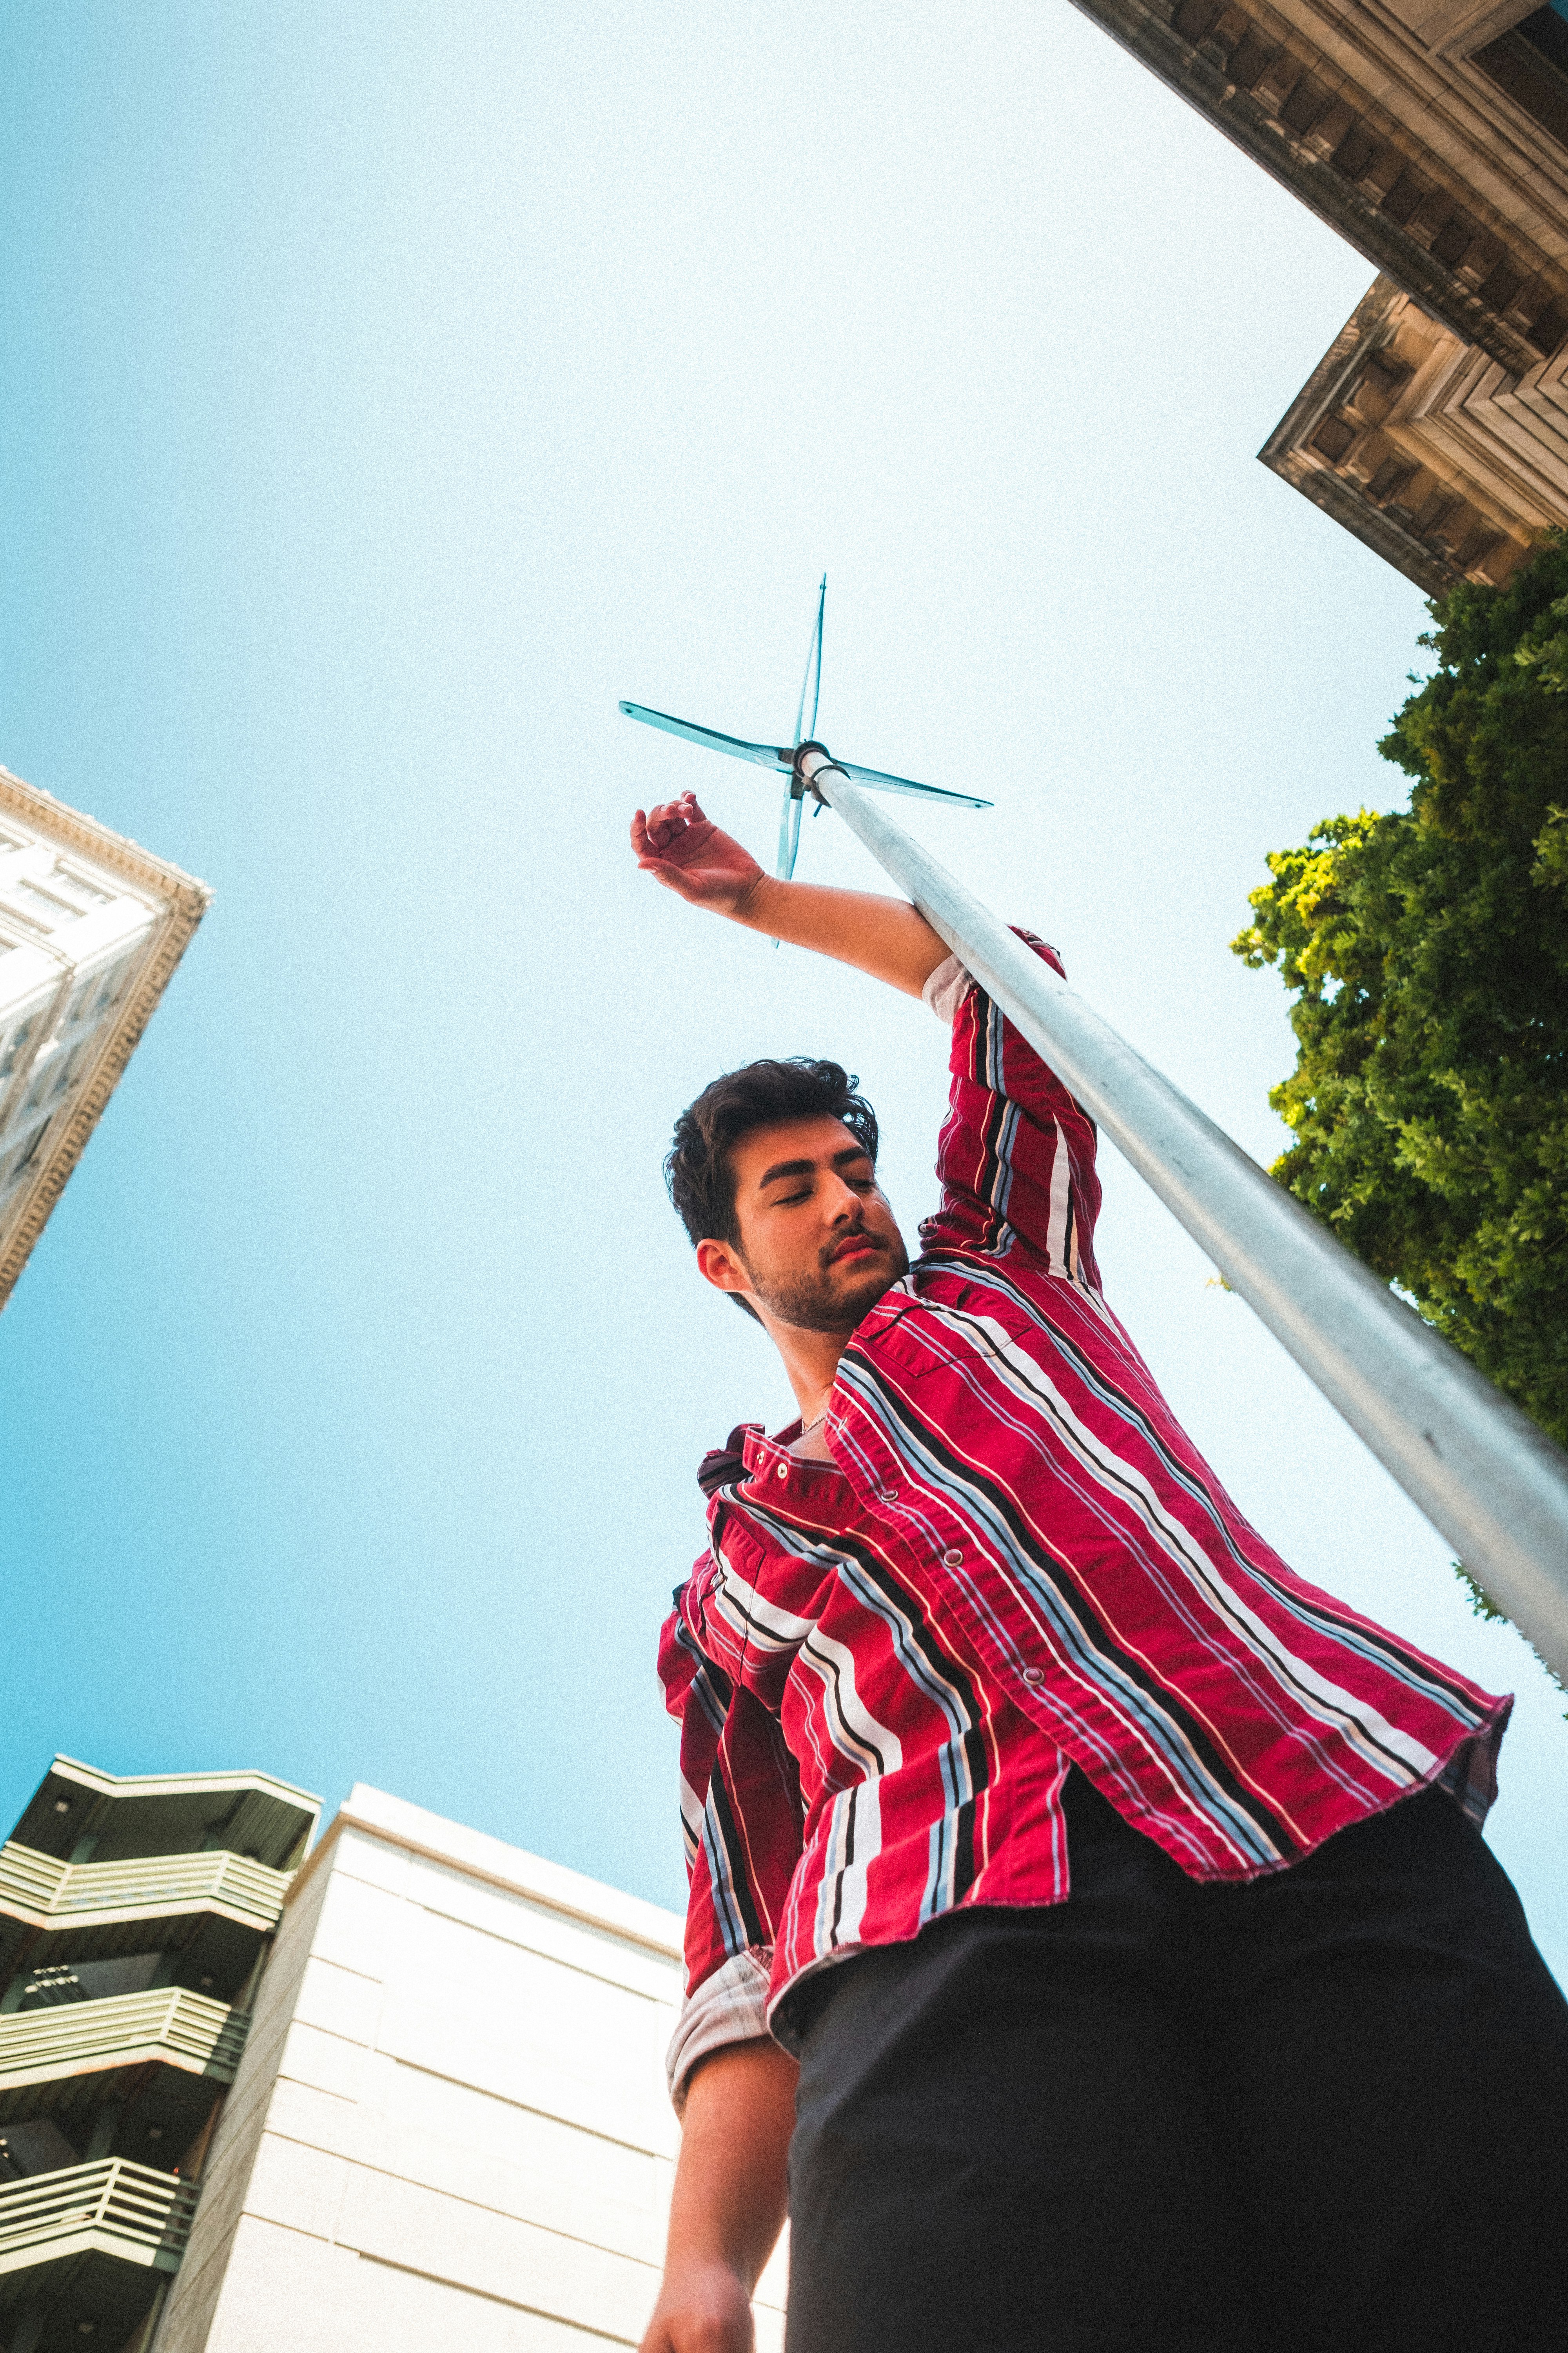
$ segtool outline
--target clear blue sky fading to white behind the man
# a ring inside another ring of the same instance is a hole
[[[839,1054],[912,1224],[943,1040],[635,873],[637,802],[776,807],[616,699],[785,732],[827,569],[827,741],[990,793],[924,838],[1272,1158],[1227,941],[1401,798],[1425,607],[1253,452],[1371,268],[1065,0],[26,0],[0,64],[0,760],[216,887],[0,1320],[0,1802],[367,1779],[677,1904],[656,1626],[788,1395],[668,1129]],[[802,873],[875,880],[832,819]],[[1521,1694],[1493,1840],[1568,1969],[1561,1697],[1107,1160],[1244,1508]]]

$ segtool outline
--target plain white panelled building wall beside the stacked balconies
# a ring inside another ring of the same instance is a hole
[[[294,1882],[155,2353],[635,2346],[677,2002],[672,1913],[355,1788]]]

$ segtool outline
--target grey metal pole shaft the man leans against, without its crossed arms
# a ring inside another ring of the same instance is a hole
[[[816,746],[802,774],[1568,1680],[1568,1454]]]

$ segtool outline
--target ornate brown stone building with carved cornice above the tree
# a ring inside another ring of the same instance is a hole
[[[1262,461],[1429,593],[1568,525],[1568,0],[1077,0],[1380,271]]]

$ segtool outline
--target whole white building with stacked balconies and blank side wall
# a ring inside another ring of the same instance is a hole
[[[0,1852],[0,2353],[637,2346],[682,1922],[357,1786],[56,1758]],[[785,2249],[757,2348],[783,2348]]]

